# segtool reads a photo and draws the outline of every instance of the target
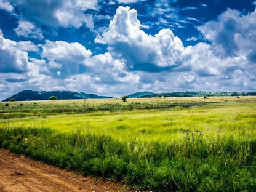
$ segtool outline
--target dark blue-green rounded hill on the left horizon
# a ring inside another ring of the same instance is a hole
[[[14,98],[16,101],[30,101],[30,100],[49,100],[49,97],[54,95],[57,99],[82,99],[82,98],[113,98],[106,96],[98,96],[95,94],[85,94],[83,92],[71,92],[71,91],[33,91],[23,90],[18,94],[12,95],[9,98],[3,100],[9,101],[10,98]]]

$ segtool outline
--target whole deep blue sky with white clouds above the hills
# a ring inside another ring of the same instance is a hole
[[[0,99],[256,91],[255,0],[0,0]]]

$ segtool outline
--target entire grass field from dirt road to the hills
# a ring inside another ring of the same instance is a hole
[[[254,191],[255,119],[256,97],[2,102],[0,146],[139,189]]]

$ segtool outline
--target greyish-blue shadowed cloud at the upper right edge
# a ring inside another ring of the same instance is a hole
[[[198,28],[222,57],[247,57],[256,63],[256,10],[241,15],[238,10],[226,10],[217,21]]]

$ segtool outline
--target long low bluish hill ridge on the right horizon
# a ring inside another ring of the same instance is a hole
[[[256,92],[226,92],[226,91],[183,91],[183,92],[167,92],[167,93],[154,93],[149,95],[142,95],[138,98],[145,97],[158,97],[161,94],[162,97],[204,97],[204,96],[249,96],[256,95]]]

